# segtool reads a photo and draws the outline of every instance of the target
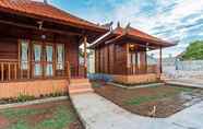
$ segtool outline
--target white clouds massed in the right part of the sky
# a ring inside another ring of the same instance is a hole
[[[186,38],[191,33],[198,33],[190,32],[190,30],[200,27],[203,22],[203,0],[155,0],[155,9],[152,9],[155,10],[154,13],[141,9],[143,3],[148,2],[148,0],[129,0],[117,4],[111,13],[112,19],[116,22],[120,21],[123,25],[131,22],[132,26],[150,34],[165,32],[156,36],[169,40],[180,40],[179,46],[166,49],[166,55],[169,52],[174,56],[178,55],[188,46],[184,43]],[[184,20],[186,17],[188,19]],[[157,30],[155,30],[156,27]],[[201,36],[202,33],[196,35]]]

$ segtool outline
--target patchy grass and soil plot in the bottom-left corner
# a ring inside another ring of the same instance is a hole
[[[0,129],[82,129],[69,101],[0,110]]]

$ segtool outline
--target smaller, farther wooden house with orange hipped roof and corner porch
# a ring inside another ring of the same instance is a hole
[[[119,83],[148,83],[159,80],[162,73],[162,49],[175,44],[151,36],[128,25],[118,24],[91,48],[95,49],[96,73],[108,74]],[[157,64],[147,64],[147,51],[159,49]]]

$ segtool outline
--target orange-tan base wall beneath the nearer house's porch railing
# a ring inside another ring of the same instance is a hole
[[[0,99],[20,95],[40,96],[51,93],[68,93],[67,80],[35,80],[0,83]]]

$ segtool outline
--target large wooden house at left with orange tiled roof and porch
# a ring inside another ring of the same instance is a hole
[[[69,82],[88,85],[79,46],[86,58],[86,43],[108,31],[47,2],[0,0],[0,98],[74,91]]]

